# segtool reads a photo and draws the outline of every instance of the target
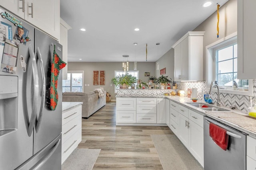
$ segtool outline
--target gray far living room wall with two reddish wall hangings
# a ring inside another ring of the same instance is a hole
[[[133,70],[133,62],[129,62],[129,69]],[[93,85],[93,71],[105,71],[105,85],[94,86]],[[103,87],[106,92],[111,94],[111,100],[115,100],[116,94],[114,94],[114,85],[111,83],[111,79],[114,77],[115,70],[123,70],[121,62],[69,62],[68,71],[84,71],[84,84],[90,84],[90,86],[84,86],[84,92],[93,91],[95,88]],[[144,76],[144,72],[150,72],[150,76],[155,76],[155,63],[154,62],[138,62],[137,70],[140,72],[140,79],[148,82],[148,77]],[[166,69],[167,70],[167,69]],[[112,86],[111,86],[112,85]]]

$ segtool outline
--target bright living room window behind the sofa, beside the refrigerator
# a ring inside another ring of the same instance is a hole
[[[62,80],[62,92],[84,92],[84,71],[68,71],[68,79]]]

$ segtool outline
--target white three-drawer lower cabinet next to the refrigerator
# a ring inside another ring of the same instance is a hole
[[[61,163],[82,141],[82,106],[62,113],[62,154]]]

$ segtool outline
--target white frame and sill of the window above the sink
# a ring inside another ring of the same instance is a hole
[[[231,43],[237,41],[237,32],[228,35],[210,45],[207,45],[206,48],[206,88],[207,91],[210,89],[210,84],[212,80],[216,80],[216,58],[215,51],[216,47],[220,47],[222,43]],[[217,92],[217,89],[213,89],[214,92]],[[232,90],[232,89],[220,89],[220,93],[227,94],[237,94],[243,96],[253,96],[253,82],[249,80],[248,90]]]

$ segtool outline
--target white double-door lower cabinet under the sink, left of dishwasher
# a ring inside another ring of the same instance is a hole
[[[178,138],[204,167],[204,117],[184,106],[178,108]]]

